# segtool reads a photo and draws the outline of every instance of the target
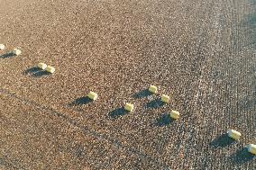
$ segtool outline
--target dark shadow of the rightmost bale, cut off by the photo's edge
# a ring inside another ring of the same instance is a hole
[[[243,164],[251,161],[255,156],[248,152],[247,148],[242,148],[234,153],[230,158],[233,164]]]

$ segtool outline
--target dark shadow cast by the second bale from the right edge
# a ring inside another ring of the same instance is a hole
[[[217,137],[216,139],[214,139],[210,143],[210,146],[212,148],[224,148],[233,143],[235,143],[235,140],[231,139],[227,134],[223,134],[223,135]]]

